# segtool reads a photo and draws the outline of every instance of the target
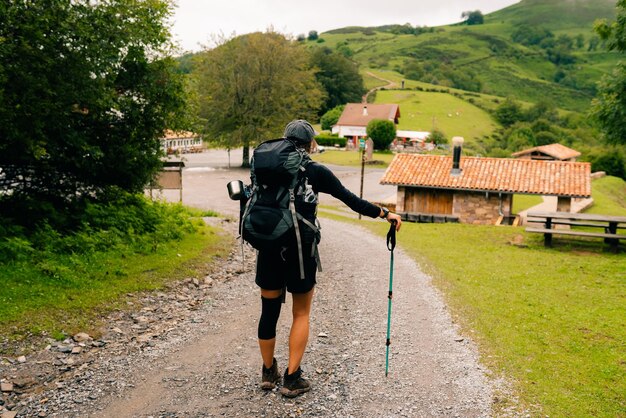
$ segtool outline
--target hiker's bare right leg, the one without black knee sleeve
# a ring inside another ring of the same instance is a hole
[[[289,334],[289,374],[292,374],[302,361],[306,344],[309,341],[309,316],[314,289],[307,293],[294,293],[293,323]],[[271,360],[270,360],[271,361]]]

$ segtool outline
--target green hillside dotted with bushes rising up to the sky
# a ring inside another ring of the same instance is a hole
[[[614,5],[524,0],[486,15],[482,25],[348,27],[314,45],[348,51],[364,72],[396,71],[407,80],[586,111],[596,82],[619,58],[592,31],[594,20],[614,17]]]

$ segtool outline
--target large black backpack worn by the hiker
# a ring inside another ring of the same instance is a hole
[[[304,279],[303,244],[311,244],[311,256],[319,255],[317,196],[305,170],[311,158],[289,139],[273,139],[254,149],[249,199],[242,205],[241,237],[257,250],[280,251],[297,246],[300,278]]]

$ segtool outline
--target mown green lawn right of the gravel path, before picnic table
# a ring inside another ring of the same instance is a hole
[[[361,224],[381,237],[388,229]],[[626,257],[598,240],[546,249],[542,239],[523,228],[462,224],[405,223],[398,235],[530,416],[620,416]],[[498,396],[496,415],[510,406]]]

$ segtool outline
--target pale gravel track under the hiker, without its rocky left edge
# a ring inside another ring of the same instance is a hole
[[[328,220],[323,228],[324,272],[303,362],[314,386],[310,393],[286,400],[257,387],[259,296],[248,266],[214,289],[214,303],[200,315],[205,322],[188,330],[183,347],[144,364],[148,369],[137,370],[129,382],[135,387],[104,399],[104,409],[93,416],[489,416],[492,389],[473,346],[457,334],[430,279],[402,250],[396,250],[385,378],[389,253],[382,237],[363,229]],[[346,243],[354,242],[358,248],[348,251]],[[289,309],[290,303],[278,331],[282,367]]]

